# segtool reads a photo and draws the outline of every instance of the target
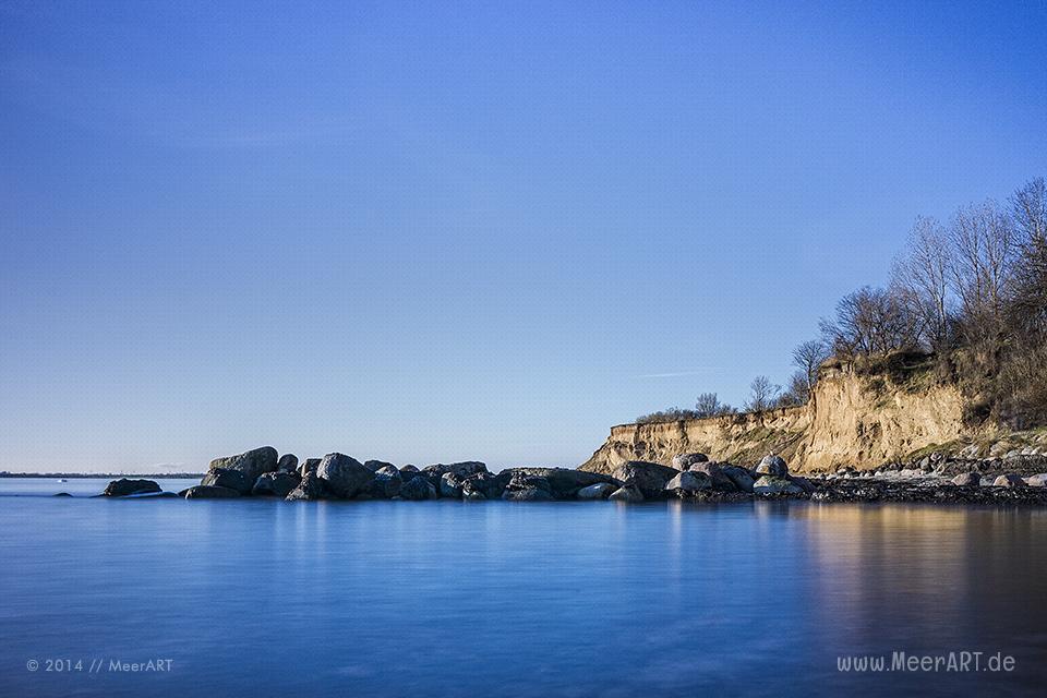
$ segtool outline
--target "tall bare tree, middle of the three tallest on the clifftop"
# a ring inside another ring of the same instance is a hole
[[[965,329],[973,337],[995,336],[1019,252],[1015,228],[995,202],[986,201],[956,212],[949,234]]]

